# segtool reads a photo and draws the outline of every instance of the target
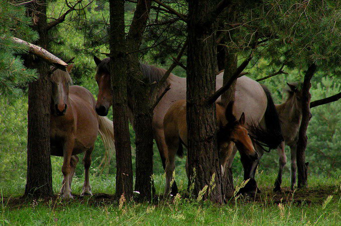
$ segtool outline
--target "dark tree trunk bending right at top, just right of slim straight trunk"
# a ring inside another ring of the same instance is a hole
[[[138,201],[150,200],[154,193],[153,173],[153,132],[152,110],[150,110],[151,86],[143,76],[138,60],[143,31],[149,17],[151,0],[138,0],[136,10],[126,38],[128,54],[129,94],[133,96],[133,113],[136,144],[135,190],[139,191]]]

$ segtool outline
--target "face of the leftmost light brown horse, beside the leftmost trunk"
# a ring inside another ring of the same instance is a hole
[[[51,113],[56,116],[64,115],[69,97],[69,86],[72,85],[70,71],[73,64],[67,66],[66,71],[56,69],[51,74],[52,81],[52,101]]]

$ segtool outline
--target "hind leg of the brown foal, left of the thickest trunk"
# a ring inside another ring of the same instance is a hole
[[[177,139],[176,143],[173,143],[172,146],[168,146],[167,158],[166,158],[166,182],[164,186],[164,194],[163,197],[167,197],[169,195],[170,190],[170,182],[173,178],[173,172],[175,169],[175,155],[177,153],[180,141]]]

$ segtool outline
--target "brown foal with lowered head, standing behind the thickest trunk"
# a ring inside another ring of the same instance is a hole
[[[241,155],[247,155],[252,159],[258,158],[248,131],[244,127],[245,114],[240,116],[239,120],[233,114],[234,101],[230,101],[227,107],[216,103],[216,118],[219,127],[217,132],[219,159],[221,163],[222,174],[224,174],[225,165],[231,155],[231,148],[234,142]],[[167,110],[163,119],[164,138],[167,145],[166,155],[166,181],[164,197],[168,196],[170,190],[170,181],[175,170],[175,155],[183,156],[183,146],[187,147],[187,119],[186,119],[186,100],[178,100]],[[188,172],[188,161],[186,161],[186,172]]]

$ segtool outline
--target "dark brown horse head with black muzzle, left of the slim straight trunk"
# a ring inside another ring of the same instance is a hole
[[[109,57],[101,60],[94,56],[94,61],[97,65],[95,78],[98,85],[96,112],[101,116],[106,116],[108,114],[109,107],[112,105],[109,60]]]

